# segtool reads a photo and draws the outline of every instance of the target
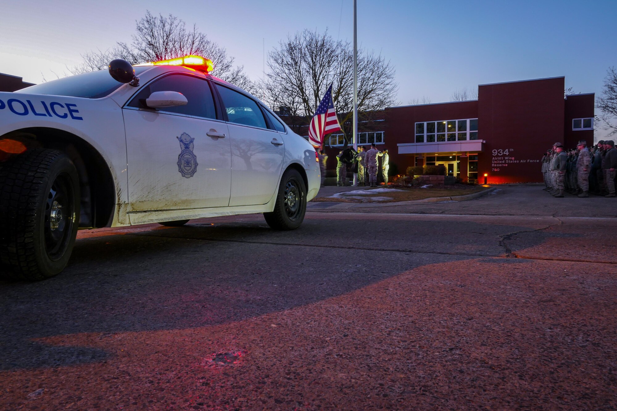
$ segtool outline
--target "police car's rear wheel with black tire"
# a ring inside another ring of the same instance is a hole
[[[307,210],[307,188],[297,170],[290,168],[283,173],[276,195],[274,211],[263,217],[275,230],[296,230],[304,221]]]

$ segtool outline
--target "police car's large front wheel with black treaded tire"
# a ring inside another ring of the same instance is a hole
[[[0,279],[43,280],[64,270],[80,215],[77,170],[58,150],[34,149],[0,169]]]

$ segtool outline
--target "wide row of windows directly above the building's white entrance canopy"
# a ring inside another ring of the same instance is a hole
[[[416,123],[415,126],[415,143],[478,139],[478,118],[420,122]]]

